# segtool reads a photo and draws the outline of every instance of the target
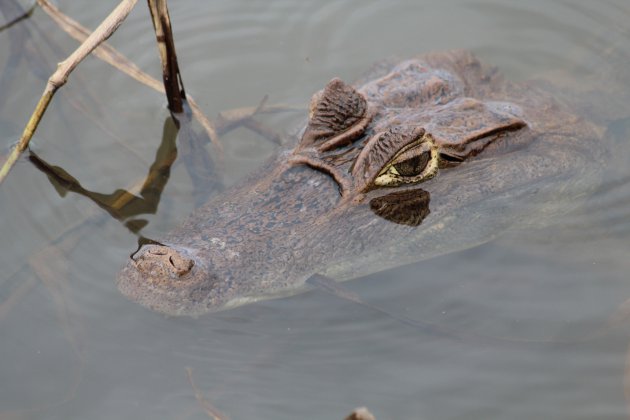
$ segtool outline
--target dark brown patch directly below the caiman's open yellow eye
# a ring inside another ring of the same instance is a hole
[[[431,212],[431,195],[421,188],[396,191],[370,200],[370,210],[399,225],[418,226]]]

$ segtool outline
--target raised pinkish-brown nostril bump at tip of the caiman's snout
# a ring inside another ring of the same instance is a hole
[[[163,245],[146,246],[134,261],[136,268],[151,278],[176,279],[189,273],[195,265],[194,260]]]

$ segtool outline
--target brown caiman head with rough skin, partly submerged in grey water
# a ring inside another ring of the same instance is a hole
[[[550,223],[596,185],[602,124],[465,51],[375,67],[313,96],[292,148],[143,245],[133,301],[200,315]]]

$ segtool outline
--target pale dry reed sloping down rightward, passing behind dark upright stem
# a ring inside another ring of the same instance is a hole
[[[41,6],[41,8],[48,14],[48,16],[50,16],[51,19],[54,20],[61,27],[61,29],[63,29],[72,38],[76,39],[79,42],[83,42],[90,34],[90,31],[87,28],[83,27],[81,24],[79,24],[69,16],[64,15],[59,9],[50,4],[48,0],[37,0],[37,2]],[[129,77],[150,87],[151,89],[154,89],[160,93],[165,93],[164,85],[162,83],[142,71],[138,66],[136,66],[127,57],[122,55],[108,43],[104,42],[99,45],[98,48],[94,50],[94,55],[105,61],[112,67],[127,74]],[[206,130],[206,133],[208,134],[208,137],[214,145],[217,153],[221,155],[223,152],[223,147],[219,142],[219,138],[214,126],[208,120],[208,118],[206,118],[206,116],[203,114],[193,98],[191,96],[188,96],[187,99],[193,115]]]

